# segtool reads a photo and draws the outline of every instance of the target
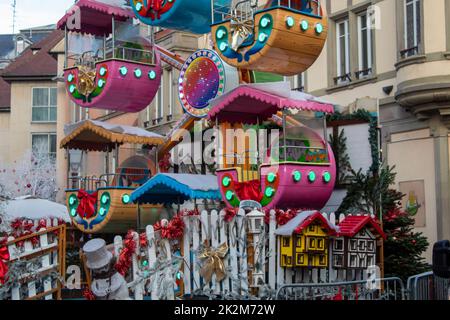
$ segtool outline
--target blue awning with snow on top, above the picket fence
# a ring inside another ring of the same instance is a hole
[[[222,199],[216,176],[160,173],[131,194],[131,201],[141,204],[182,204],[195,199]]]

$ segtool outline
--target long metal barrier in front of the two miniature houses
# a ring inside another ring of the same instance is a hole
[[[278,289],[276,300],[404,300],[400,278],[372,281],[288,284]]]

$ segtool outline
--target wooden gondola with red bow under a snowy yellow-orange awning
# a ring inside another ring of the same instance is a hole
[[[115,151],[115,170],[99,176],[68,175],[66,205],[73,224],[84,233],[122,233],[140,223],[154,223],[161,206],[139,206],[131,193],[156,174],[156,161],[142,155],[128,157],[119,165],[119,147],[123,144],[158,146],[162,136],[141,128],[84,120],[66,127],[61,148],[84,152]],[[68,168],[70,155],[68,152]],[[107,163],[109,163],[107,161]],[[141,219],[142,217],[142,219]]]

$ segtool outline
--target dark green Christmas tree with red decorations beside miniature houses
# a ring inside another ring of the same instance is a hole
[[[387,240],[384,243],[385,277],[409,276],[430,270],[422,254],[429,243],[420,232],[414,231],[414,215],[402,208],[404,195],[394,189],[396,173],[394,167],[384,167],[380,174],[371,171],[353,172],[348,193],[339,212],[382,214],[383,229]],[[381,207],[380,207],[381,205]]]

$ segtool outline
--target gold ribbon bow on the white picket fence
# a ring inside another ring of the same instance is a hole
[[[223,259],[227,253],[228,245],[226,243],[221,244],[217,249],[213,249],[208,244],[205,244],[199,259],[205,260],[200,270],[200,275],[205,279],[206,283],[211,281],[213,274],[216,275],[217,281],[225,279],[226,271]]]

